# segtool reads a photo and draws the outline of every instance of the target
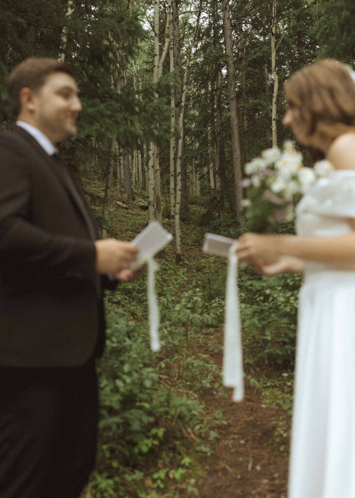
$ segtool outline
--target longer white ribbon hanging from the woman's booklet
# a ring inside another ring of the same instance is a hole
[[[224,321],[223,385],[234,387],[233,401],[244,396],[243,351],[237,285],[236,242],[229,249]]]

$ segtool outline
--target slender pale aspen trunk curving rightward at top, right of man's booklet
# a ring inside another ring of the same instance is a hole
[[[192,47],[195,43],[195,39],[196,39],[196,35],[197,35],[198,25],[200,22],[201,10],[202,10],[202,0],[200,0],[200,2],[199,2],[195,29],[193,31],[191,43],[187,49],[186,65],[185,65],[185,70],[183,73],[183,80],[182,80],[182,96],[181,96],[180,115],[179,115],[179,121],[178,121],[177,190],[176,190],[176,199],[175,199],[175,238],[176,238],[176,250],[177,250],[176,260],[177,261],[179,261],[181,259],[180,203],[181,203],[181,154],[182,154],[182,142],[183,142],[183,134],[184,134],[183,117],[184,117],[184,111],[185,111],[185,100],[186,100],[186,93],[187,93],[187,76],[188,76],[188,70],[189,70],[190,60],[191,60],[191,51],[192,51]]]

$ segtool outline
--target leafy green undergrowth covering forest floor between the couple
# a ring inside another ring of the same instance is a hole
[[[88,186],[102,195],[98,187]],[[132,240],[146,226],[137,198],[128,210],[111,203],[109,235]],[[169,230],[168,220],[163,225]],[[158,353],[149,348],[146,275],[107,293],[98,460],[85,498],[198,497],[196,480],[208,472],[205,456],[224,424],[221,411],[203,400],[226,395],[215,361],[222,354],[226,261],[202,253],[205,229],[181,228],[182,261],[175,262],[174,242],[157,256]],[[231,230],[226,224],[223,235],[236,237]],[[280,451],[291,392],[282,373],[293,364],[298,284],[290,275],[239,271],[246,381],[261,389],[264,403],[280,408]],[[263,376],[263,368],[272,374]]]

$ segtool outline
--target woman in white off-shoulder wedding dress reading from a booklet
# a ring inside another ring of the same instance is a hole
[[[355,498],[355,79],[320,61],[286,83],[283,124],[334,167],[297,206],[297,235],[239,239],[260,273],[304,274],[289,498]]]

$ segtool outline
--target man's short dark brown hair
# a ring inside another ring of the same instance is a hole
[[[7,80],[7,92],[16,116],[21,110],[21,88],[39,90],[49,74],[58,72],[68,73],[75,78],[74,69],[69,64],[50,57],[29,57],[11,71]]]

